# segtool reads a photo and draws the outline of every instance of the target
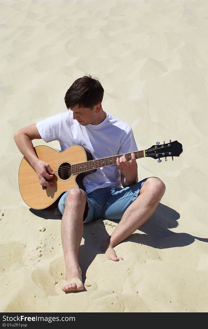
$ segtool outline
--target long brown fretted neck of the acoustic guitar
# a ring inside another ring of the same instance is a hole
[[[135,154],[136,159],[145,158],[146,153],[145,150],[142,151],[135,151],[126,154],[126,158],[128,161],[131,160],[131,153]],[[113,155],[111,157],[101,158],[101,159],[94,159],[86,162],[80,162],[77,164],[72,164],[72,174],[80,174],[81,172],[89,171],[98,169],[101,167],[106,167],[108,165],[116,164],[116,159],[121,158],[124,154]]]

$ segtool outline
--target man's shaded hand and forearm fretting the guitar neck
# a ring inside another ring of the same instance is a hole
[[[134,153],[131,153],[131,160],[128,161],[126,155],[117,158],[116,164],[121,171],[121,184],[123,187],[135,184],[138,182],[137,163]]]

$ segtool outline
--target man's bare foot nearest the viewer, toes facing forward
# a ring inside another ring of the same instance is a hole
[[[62,287],[63,291],[80,291],[84,289],[81,277],[81,269],[66,273],[66,284]]]

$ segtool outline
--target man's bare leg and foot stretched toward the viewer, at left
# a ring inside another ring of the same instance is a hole
[[[78,255],[83,235],[85,205],[84,192],[79,189],[72,189],[68,192],[61,221],[61,240],[66,265],[66,284],[62,287],[63,291],[84,289]]]

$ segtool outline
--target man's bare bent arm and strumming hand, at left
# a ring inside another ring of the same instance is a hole
[[[35,169],[40,181],[40,185],[49,186],[52,182],[47,182],[46,179],[51,179],[54,175],[50,165],[38,159],[35,154],[33,139],[41,139],[37,130],[36,124],[22,128],[13,136],[13,139],[20,150],[20,152],[28,159],[32,167]]]

